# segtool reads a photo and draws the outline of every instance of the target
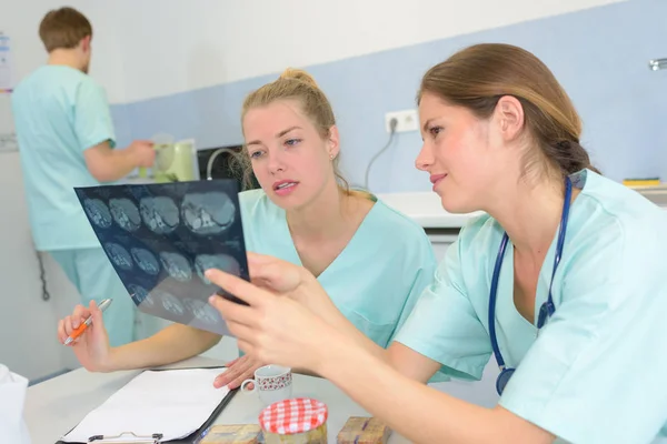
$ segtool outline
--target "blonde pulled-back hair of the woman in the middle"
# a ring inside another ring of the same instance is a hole
[[[319,89],[315,79],[306,71],[288,68],[277,80],[248,94],[241,111],[241,127],[243,118],[250,109],[265,107],[278,100],[297,100],[301,104],[303,114],[312,121],[322,138],[327,138],[331,127],[336,124],[331,103]],[[243,145],[240,155],[237,155],[237,161],[243,172],[243,185],[249,186],[252,183],[252,164],[247,147]],[[334,174],[340,189],[349,194],[350,188],[340,173],[339,162],[340,153],[334,159]]]

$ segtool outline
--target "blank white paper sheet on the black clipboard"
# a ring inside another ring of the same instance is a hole
[[[229,393],[215,389],[225,369],[146,371],[90,412],[62,441],[83,442],[92,435],[163,434],[178,440],[197,431]]]

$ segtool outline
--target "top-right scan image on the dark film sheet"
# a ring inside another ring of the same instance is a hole
[[[236,205],[222,192],[191,193],[183,196],[182,218],[196,234],[219,234],[235,221]]]

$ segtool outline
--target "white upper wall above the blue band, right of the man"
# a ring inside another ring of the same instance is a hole
[[[116,0],[128,101],[623,0]],[[479,11],[482,11],[481,13]]]

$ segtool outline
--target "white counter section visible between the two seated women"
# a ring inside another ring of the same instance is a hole
[[[388,206],[404,213],[427,230],[459,230],[471,218],[484,214],[481,211],[449,213],[442,209],[440,196],[432,192],[386,193],[377,196]]]

